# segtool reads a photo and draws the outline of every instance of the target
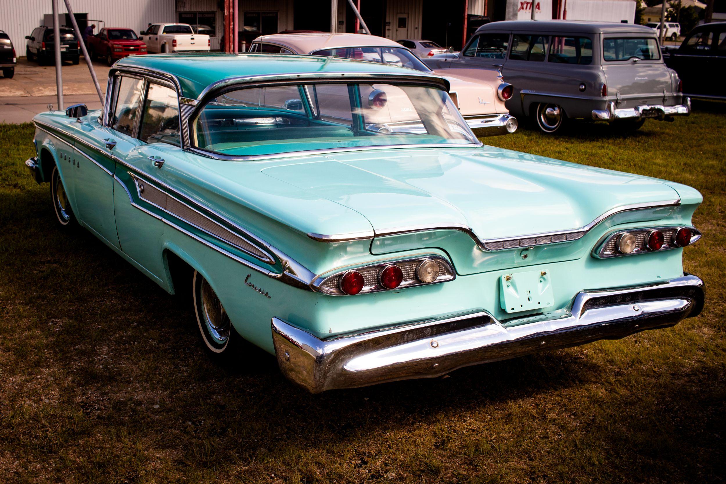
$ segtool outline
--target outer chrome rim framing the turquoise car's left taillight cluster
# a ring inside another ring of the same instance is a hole
[[[380,268],[385,268],[386,266],[390,266],[391,264],[398,264],[398,263],[407,263],[412,261],[425,261],[427,259],[432,259],[434,261],[441,261],[444,263],[444,266],[446,266],[446,271],[449,272],[449,274],[446,274],[444,276],[439,276],[436,281],[433,282],[420,282],[416,275],[414,274],[414,279],[412,279],[413,282],[406,283],[402,282],[399,287],[396,287],[395,289],[386,289],[385,287],[378,287],[380,283],[377,283],[375,286],[373,286],[373,289],[370,290],[362,290],[356,295],[363,295],[363,294],[372,294],[374,292],[383,292],[383,291],[397,291],[397,290],[403,290],[407,287],[418,287],[418,286],[430,286],[431,284],[441,284],[443,282],[449,282],[456,279],[456,271],[454,270],[454,265],[444,257],[443,255],[439,255],[436,253],[417,253],[417,254],[411,254],[404,258],[388,258],[383,261],[374,261],[371,263],[364,264],[363,266],[354,265],[354,266],[343,266],[334,268],[330,271],[326,271],[322,274],[319,274],[314,277],[313,281],[310,283],[310,287],[315,292],[322,292],[325,295],[329,296],[347,296],[346,293],[344,293],[342,290],[340,290],[340,287],[338,286],[338,290],[330,290],[327,287],[324,287],[324,284],[329,281],[330,279],[333,279],[335,277],[340,277],[343,274],[345,274],[348,271],[364,271],[368,268],[377,267],[380,266]],[[380,276],[380,274],[379,274]]]

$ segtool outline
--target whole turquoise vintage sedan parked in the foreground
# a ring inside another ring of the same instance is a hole
[[[311,392],[700,313],[701,194],[484,146],[447,88],[329,57],[127,57],[102,111],[34,118],[25,163],[61,226],[193,299],[210,354],[241,336]]]

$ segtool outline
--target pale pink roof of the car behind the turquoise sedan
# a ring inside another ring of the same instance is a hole
[[[259,36],[256,42],[269,42],[301,54],[308,54],[321,49],[338,49],[341,47],[399,47],[401,44],[390,38],[369,36],[364,33],[276,33],[271,36]]]

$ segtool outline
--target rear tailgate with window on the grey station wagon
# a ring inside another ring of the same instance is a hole
[[[642,33],[603,36],[603,72],[617,107],[666,104],[673,86],[655,36]]]

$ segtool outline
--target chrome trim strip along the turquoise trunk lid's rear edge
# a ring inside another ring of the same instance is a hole
[[[471,229],[470,226],[464,225],[462,223],[454,223],[454,224],[446,224],[446,225],[439,225],[439,224],[422,224],[417,226],[404,226],[404,227],[393,227],[391,229],[381,229],[381,230],[374,230],[373,234],[369,234],[367,232],[361,232],[358,234],[308,234],[308,237],[311,239],[317,240],[319,242],[348,242],[350,240],[359,240],[359,239],[370,239],[375,237],[386,237],[390,235],[399,235],[399,234],[411,234],[415,232],[422,232],[422,231],[431,231],[431,230],[458,230],[462,231],[465,234],[467,234],[469,237],[471,237],[474,242],[476,242],[476,245],[481,249],[485,251],[496,251],[496,250],[510,250],[515,249],[518,247],[534,247],[537,245],[547,245],[547,244],[559,244],[563,242],[571,242],[576,239],[580,239],[584,237],[585,234],[587,234],[588,231],[590,231],[593,227],[597,226],[598,223],[604,221],[606,218],[610,218],[611,216],[614,216],[618,213],[623,212],[629,212],[632,210],[643,210],[647,208],[666,208],[666,207],[677,207],[680,205],[680,199],[678,200],[666,200],[664,202],[644,202],[644,203],[635,203],[632,205],[623,205],[622,207],[616,207],[612,208],[611,210],[608,210],[607,212],[603,213],[602,215],[595,218],[590,223],[587,223],[587,225],[584,225],[582,227],[576,228],[576,229],[566,229],[566,230],[559,230],[559,231],[551,231],[551,232],[539,232],[537,234],[524,234],[524,235],[518,235],[515,237],[499,237],[496,239],[479,239],[474,231]],[[351,238],[347,238],[348,236],[354,236]],[[370,237],[364,237],[370,236]],[[556,240],[552,241],[551,237],[555,236],[565,236],[565,239],[563,240]],[[572,236],[572,237],[568,237]],[[544,240],[547,237],[550,237],[550,240]],[[543,239],[541,241],[538,241],[537,239]],[[518,245],[510,246],[510,247],[504,247],[505,242],[515,242],[518,241]],[[522,242],[525,242],[524,244]],[[502,244],[502,247],[496,247],[495,245]]]

